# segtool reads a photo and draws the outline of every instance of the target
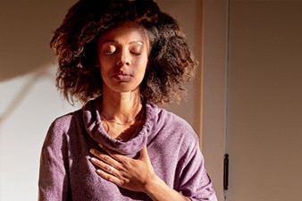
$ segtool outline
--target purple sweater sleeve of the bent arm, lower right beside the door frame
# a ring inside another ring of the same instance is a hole
[[[181,193],[192,201],[217,201],[212,180],[206,172],[204,157],[197,140],[192,143],[186,155],[181,173]]]

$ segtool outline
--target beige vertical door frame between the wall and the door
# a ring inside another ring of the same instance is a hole
[[[202,151],[218,200],[224,200],[229,1],[203,1]]]

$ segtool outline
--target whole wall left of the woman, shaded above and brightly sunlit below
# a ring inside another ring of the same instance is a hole
[[[0,200],[37,200],[46,130],[74,110],[55,89],[48,45],[71,2],[0,1]]]

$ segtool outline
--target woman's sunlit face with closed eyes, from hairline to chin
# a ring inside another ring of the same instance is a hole
[[[138,91],[148,63],[147,31],[124,23],[98,39],[98,62],[103,91],[117,93]]]

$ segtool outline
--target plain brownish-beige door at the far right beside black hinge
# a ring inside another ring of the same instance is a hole
[[[302,2],[230,4],[228,201],[302,198]]]

